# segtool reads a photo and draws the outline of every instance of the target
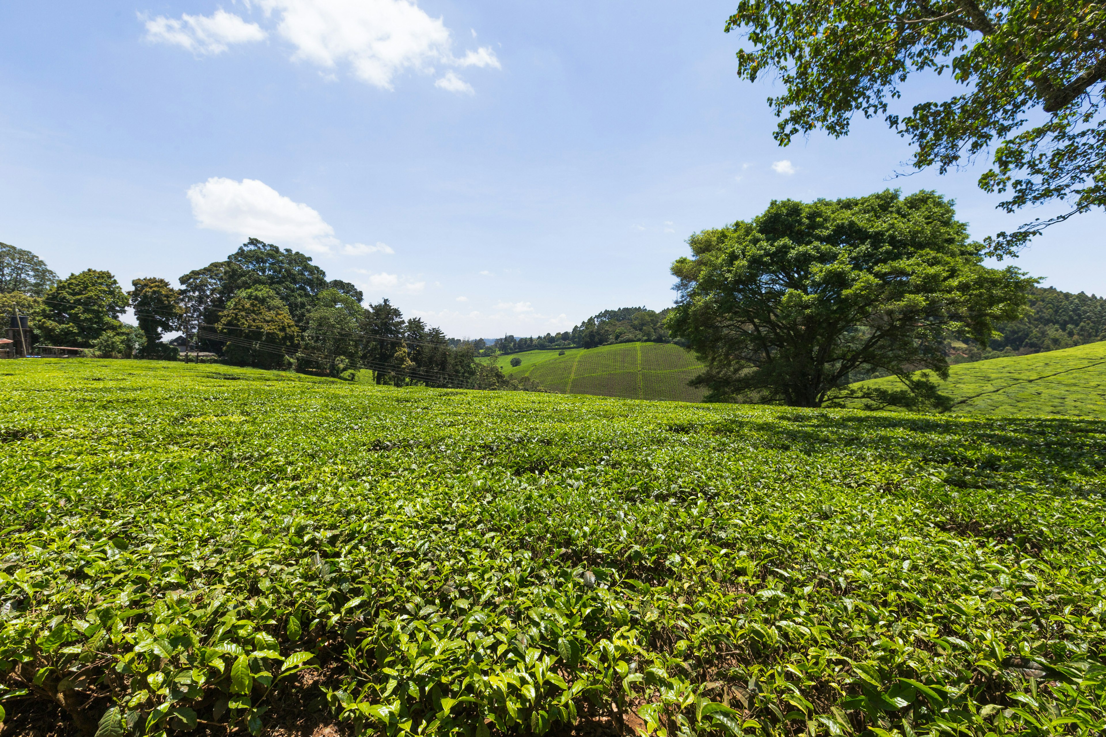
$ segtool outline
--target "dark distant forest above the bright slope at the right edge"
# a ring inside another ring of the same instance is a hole
[[[1033,286],[1029,301],[1025,317],[995,324],[1001,336],[991,338],[987,348],[969,341],[952,348],[951,360],[1024,356],[1106,340],[1106,298]]]

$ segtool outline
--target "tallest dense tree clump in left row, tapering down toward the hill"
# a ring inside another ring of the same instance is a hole
[[[295,368],[376,383],[534,389],[476,362],[478,347],[404,319],[387,299],[362,306],[353,284],[326,278],[311,257],[250,239],[226,261],[180,277],[181,328],[238,366]]]

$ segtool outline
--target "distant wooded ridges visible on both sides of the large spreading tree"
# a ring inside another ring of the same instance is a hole
[[[969,340],[951,341],[949,362],[1026,356],[1045,350],[1073,348],[1086,343],[1106,340],[1106,297],[1073,294],[1054,287],[1030,288],[1030,314],[1020,320],[999,323],[1002,337],[990,341],[987,348]],[[645,307],[605,309],[588,317],[572,330],[546,333],[528,338],[508,335],[486,346],[478,340],[476,347],[483,354],[514,354],[523,350],[550,348],[594,348],[615,343],[672,343],[665,328],[665,316]]]

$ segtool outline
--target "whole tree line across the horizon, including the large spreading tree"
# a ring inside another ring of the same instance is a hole
[[[1041,288],[1039,278],[983,265],[952,202],[885,190],[838,200],[773,201],[761,215],[688,239],[671,267],[676,306],[604,310],[538,338],[451,340],[387,299],[362,306],[353,284],[309,256],[250,239],[225,261],[180,277],[132,282],[86,270],[59,280],[34,254],[0,248],[0,294],[48,341],[98,356],[174,358],[180,330],[222,360],[377,383],[539,389],[478,360],[488,352],[677,343],[705,365],[692,386],[708,401],[797,407],[859,400],[879,409],[947,407],[932,378],[952,362],[1079,345],[1106,337],[1106,301]],[[132,307],[137,326],[118,318]],[[189,346],[190,347],[190,346]],[[901,389],[864,386],[895,376]],[[347,377],[348,378],[348,377]]]

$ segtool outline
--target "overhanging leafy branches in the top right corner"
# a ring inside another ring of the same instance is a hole
[[[1013,212],[1067,203],[989,241],[1004,255],[1054,222],[1106,208],[1106,4],[1098,0],[741,0],[726,30],[745,31],[738,74],[774,73],[776,140],[848,133],[854,114],[884,116],[943,173],[991,152],[980,178]],[[916,73],[959,91],[918,98]],[[910,101],[900,115],[894,102]]]

